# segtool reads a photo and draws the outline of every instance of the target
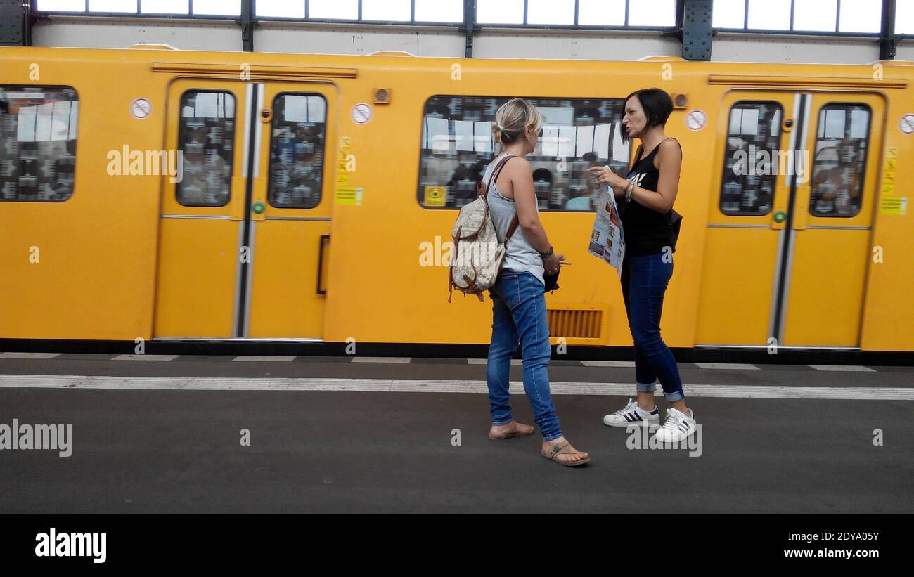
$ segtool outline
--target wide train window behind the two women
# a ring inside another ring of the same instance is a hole
[[[418,198],[426,208],[460,208],[476,199],[494,142],[495,111],[509,98],[435,96],[425,103]],[[622,99],[526,99],[543,115],[537,148],[526,156],[540,210],[592,211],[599,191],[590,166],[623,176],[631,159],[622,142]]]

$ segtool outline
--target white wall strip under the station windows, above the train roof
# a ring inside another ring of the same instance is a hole
[[[33,28],[35,46],[128,47],[164,43],[186,50],[240,50],[241,32],[231,21],[162,20],[53,16]],[[462,58],[465,40],[456,28],[354,24],[260,23],[254,29],[259,52],[369,54],[405,50],[416,56]],[[473,38],[476,58],[585,58],[636,60],[680,56],[674,37],[656,32],[585,32],[485,28]],[[879,57],[872,38],[788,37],[721,33],[711,58],[726,62],[821,62],[861,64]],[[914,60],[914,39],[898,46],[898,59]]]

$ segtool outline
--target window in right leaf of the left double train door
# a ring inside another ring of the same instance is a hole
[[[283,92],[273,99],[271,206],[314,208],[321,202],[326,113],[320,95]]]

